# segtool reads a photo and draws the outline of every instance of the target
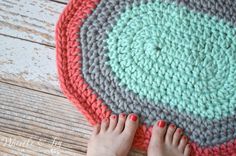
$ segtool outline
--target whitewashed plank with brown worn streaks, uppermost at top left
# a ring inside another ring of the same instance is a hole
[[[53,46],[55,24],[64,7],[48,0],[1,0],[0,34]]]

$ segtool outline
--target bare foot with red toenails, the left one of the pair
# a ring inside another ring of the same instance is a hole
[[[130,114],[111,115],[94,128],[87,156],[126,156],[138,128],[138,117]]]

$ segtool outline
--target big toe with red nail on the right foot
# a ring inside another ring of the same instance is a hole
[[[166,133],[166,122],[164,120],[158,121],[152,128],[152,136],[151,136],[151,145],[158,146],[164,143],[164,137]]]

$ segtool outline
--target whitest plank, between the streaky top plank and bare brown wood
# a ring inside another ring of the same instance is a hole
[[[0,35],[0,81],[61,95],[55,48]]]

